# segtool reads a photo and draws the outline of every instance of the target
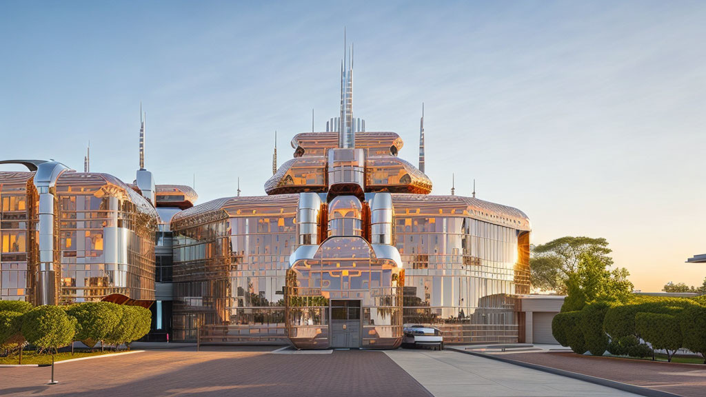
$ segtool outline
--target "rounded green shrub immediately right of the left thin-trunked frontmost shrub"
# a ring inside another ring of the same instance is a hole
[[[76,335],[73,340],[80,340],[92,348],[118,325],[120,317],[117,304],[111,302],[83,302],[72,304],[66,314],[76,319]]]

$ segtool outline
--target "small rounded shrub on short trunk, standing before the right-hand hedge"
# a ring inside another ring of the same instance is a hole
[[[676,316],[658,313],[638,313],[635,315],[635,326],[646,342],[653,349],[664,349],[667,361],[681,348],[681,327]]]

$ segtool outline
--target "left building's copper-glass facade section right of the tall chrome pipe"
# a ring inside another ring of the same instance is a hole
[[[155,298],[157,213],[107,174],[66,173],[59,201],[60,303]]]

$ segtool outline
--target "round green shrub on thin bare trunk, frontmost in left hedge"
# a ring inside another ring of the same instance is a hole
[[[22,334],[37,348],[58,349],[71,343],[75,324],[61,307],[44,305],[24,314]]]

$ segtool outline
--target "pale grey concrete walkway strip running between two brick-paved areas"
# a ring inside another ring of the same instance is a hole
[[[391,350],[385,354],[436,397],[635,396],[606,386],[450,350]]]

